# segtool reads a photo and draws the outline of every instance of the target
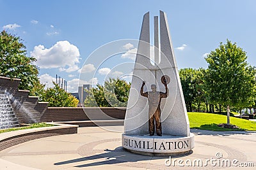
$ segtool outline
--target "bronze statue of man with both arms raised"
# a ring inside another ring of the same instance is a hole
[[[165,79],[164,79],[165,80]],[[145,85],[145,81],[143,81],[140,89],[141,96],[148,98],[148,132],[150,136],[153,136],[155,133],[155,120],[156,120],[156,134],[157,136],[162,136],[162,127],[161,127],[161,110],[160,104],[161,99],[168,96],[169,91],[167,88],[166,81],[162,81],[165,87],[165,93],[158,92],[156,90],[156,85],[151,85],[152,91],[144,92],[143,87]]]

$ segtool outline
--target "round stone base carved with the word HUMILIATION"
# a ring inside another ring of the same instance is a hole
[[[122,146],[132,153],[141,155],[186,155],[192,152],[194,144],[192,133],[189,136],[122,134]]]

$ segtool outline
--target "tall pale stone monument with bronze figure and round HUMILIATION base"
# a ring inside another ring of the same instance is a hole
[[[154,17],[154,64],[150,62],[149,20],[148,12],[141,26],[122,146],[146,155],[186,154],[194,147],[194,136],[189,131],[166,13],[160,11],[160,24]]]

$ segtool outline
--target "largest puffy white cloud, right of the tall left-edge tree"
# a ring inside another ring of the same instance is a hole
[[[30,55],[37,59],[36,65],[42,69],[59,68],[68,73],[79,69],[79,49],[68,41],[58,41],[51,48],[35,46]]]

